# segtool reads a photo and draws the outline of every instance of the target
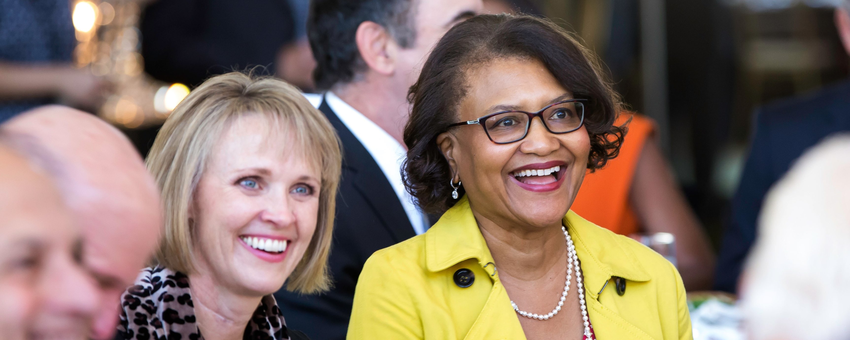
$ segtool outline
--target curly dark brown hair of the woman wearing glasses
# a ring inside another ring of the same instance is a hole
[[[620,99],[604,79],[595,55],[550,20],[478,15],[439,40],[408,94],[413,110],[405,126],[408,151],[402,173],[407,190],[425,212],[439,214],[457,202],[450,196],[452,173],[436,139],[458,119],[457,110],[469,86],[467,71],[492,59],[511,57],[539,60],[576,99],[588,99],[584,120],[591,142],[588,169],[604,167],[619,153],[626,135],[625,126],[615,126]]]

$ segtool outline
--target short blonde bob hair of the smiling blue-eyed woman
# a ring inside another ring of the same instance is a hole
[[[189,218],[195,187],[222,133],[246,114],[266,116],[269,125],[287,133],[302,156],[320,170],[316,229],[304,257],[286,280],[286,289],[326,291],[331,286],[327,258],[342,167],[339,139],[331,123],[297,88],[272,77],[241,72],[212,77],[177,105],[156,135],[147,158],[148,169],[162,191],[165,213],[156,263],[186,274],[195,270],[194,227]]]

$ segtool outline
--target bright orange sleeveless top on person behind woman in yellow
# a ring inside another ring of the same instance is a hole
[[[587,173],[570,207],[582,218],[620,235],[631,235],[640,229],[638,216],[629,201],[629,191],[643,144],[655,132],[655,122],[631,112],[621,114],[615,124],[621,125],[629,117],[632,122],[620,155],[595,173]]]

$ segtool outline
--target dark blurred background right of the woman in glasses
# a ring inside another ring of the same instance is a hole
[[[498,3],[490,1],[490,3]],[[847,78],[830,1],[525,0],[575,31],[663,150],[717,248],[753,111]]]

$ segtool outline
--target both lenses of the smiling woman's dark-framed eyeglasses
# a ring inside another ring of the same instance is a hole
[[[553,133],[567,133],[581,126],[584,105],[580,102],[558,103],[542,113],[542,121]],[[508,111],[490,116],[484,122],[490,139],[496,143],[522,139],[528,130],[529,115],[522,111]]]

